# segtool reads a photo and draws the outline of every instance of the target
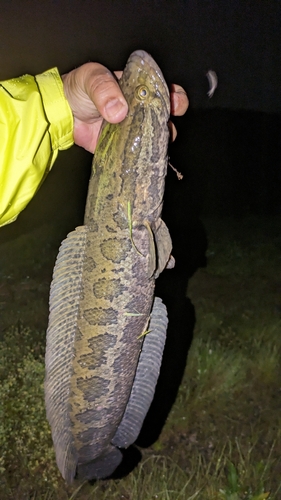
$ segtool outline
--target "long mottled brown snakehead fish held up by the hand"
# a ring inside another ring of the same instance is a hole
[[[58,467],[67,482],[119,465],[153,399],[166,308],[155,278],[172,267],[161,220],[169,91],[144,51],[129,57],[120,87],[128,114],[104,122],[84,225],[62,242],[50,290],[45,401]]]

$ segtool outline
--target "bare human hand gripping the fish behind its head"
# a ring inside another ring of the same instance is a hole
[[[116,71],[120,78],[122,71]],[[121,122],[128,111],[127,102],[114,75],[99,63],[86,63],[62,76],[64,93],[74,116],[74,142],[87,151],[95,151],[103,118],[110,123]],[[173,84],[171,113],[181,116],[188,108],[182,87]],[[171,140],[176,128],[170,122]]]

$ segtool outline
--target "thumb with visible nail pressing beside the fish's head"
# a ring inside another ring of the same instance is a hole
[[[110,123],[122,121],[128,111],[127,102],[114,75],[94,63],[86,79],[86,92],[103,118]]]

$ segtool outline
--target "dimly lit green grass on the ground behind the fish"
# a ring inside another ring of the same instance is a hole
[[[14,290],[19,316],[13,318],[20,321],[8,326],[6,306],[0,331],[1,499],[280,499],[280,222],[204,221],[208,265],[188,284],[196,325],[177,399],[158,441],[141,450],[141,461],[121,479],[66,487],[60,478],[44,409],[45,325],[38,328],[33,318],[46,292],[34,297],[29,320]],[[14,259],[16,242],[5,245],[5,255],[13,245]],[[24,263],[13,271],[20,283],[34,259],[28,238],[26,247],[20,239],[22,253]],[[33,287],[51,275],[52,259],[45,256],[41,269],[36,260]],[[5,266],[10,276],[8,257]],[[5,290],[4,272],[2,283]],[[7,304],[9,296],[1,297]]]

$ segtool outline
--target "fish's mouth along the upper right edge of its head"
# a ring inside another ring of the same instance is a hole
[[[161,69],[153,57],[145,50],[135,50],[129,57],[127,65],[136,65],[139,71],[144,71],[153,81],[154,87],[164,101],[167,115],[170,115],[170,92]]]

